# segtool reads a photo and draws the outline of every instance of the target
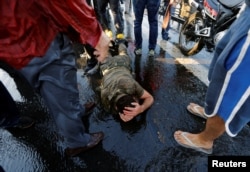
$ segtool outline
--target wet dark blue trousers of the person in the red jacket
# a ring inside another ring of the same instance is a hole
[[[36,57],[21,70],[44,99],[67,146],[85,146],[90,135],[85,133],[81,117],[84,107],[79,102],[75,53],[69,39],[58,34],[43,57]]]

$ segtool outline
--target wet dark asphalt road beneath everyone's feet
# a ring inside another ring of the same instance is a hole
[[[131,21],[126,27],[127,36],[133,40]],[[17,90],[24,101],[17,105],[23,115],[36,119],[36,125],[27,130],[0,129],[0,165],[6,172],[185,172],[207,171],[208,155],[179,146],[173,138],[174,131],[181,129],[199,132],[205,120],[186,111],[189,102],[203,103],[207,85],[187,64],[181,64],[173,43],[178,32],[171,30],[171,40],[161,41],[157,56],[147,56],[147,20],[144,21],[145,35],[143,55],[135,57],[133,42],[128,51],[133,60],[136,80],[155,98],[153,106],[131,122],[123,123],[103,112],[98,104],[99,76],[82,77],[79,70],[80,100],[82,103],[95,101],[97,107],[85,121],[89,132],[103,131],[104,140],[94,149],[76,157],[66,157],[63,138],[56,130],[53,120],[39,95],[19,77],[14,76]],[[159,32],[160,33],[160,32]],[[197,59],[206,52],[201,52]],[[212,57],[212,55],[210,55]],[[184,57],[189,58],[189,57]],[[202,60],[201,60],[202,61]],[[206,59],[205,59],[206,61]],[[189,66],[197,64],[190,64]],[[207,62],[203,65],[209,66]],[[203,74],[204,75],[204,74]],[[204,76],[203,76],[204,77]],[[224,134],[214,143],[212,155],[250,155],[250,129],[246,126],[237,137]]]

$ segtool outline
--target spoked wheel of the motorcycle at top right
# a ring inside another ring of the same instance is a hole
[[[195,35],[195,26],[204,28],[204,20],[200,12],[191,14],[181,27],[179,48],[186,56],[197,54],[204,47],[203,37]]]

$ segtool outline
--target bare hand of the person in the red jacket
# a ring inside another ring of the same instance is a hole
[[[97,43],[94,51],[94,55],[99,62],[104,61],[108,57],[109,44],[110,38],[104,32],[102,32],[99,42]]]

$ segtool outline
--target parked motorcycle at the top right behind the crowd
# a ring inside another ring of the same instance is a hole
[[[186,55],[194,55],[206,47],[213,51],[229,26],[236,19],[244,0],[204,0],[203,4],[190,0],[195,8],[184,22],[179,34],[179,48]]]

